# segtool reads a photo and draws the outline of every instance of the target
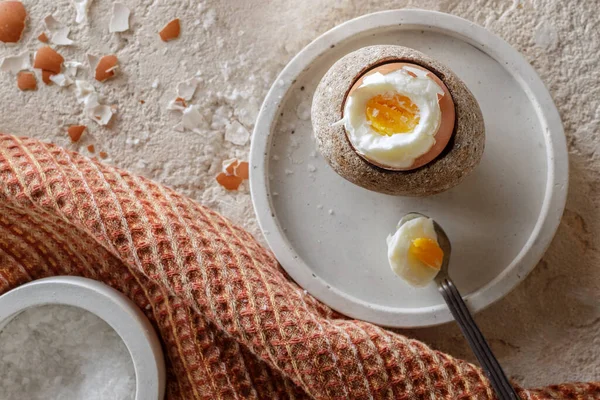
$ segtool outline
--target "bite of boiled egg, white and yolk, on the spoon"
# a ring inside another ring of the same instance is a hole
[[[444,251],[433,220],[418,217],[402,223],[388,236],[388,260],[396,275],[417,287],[426,286],[440,271]]]

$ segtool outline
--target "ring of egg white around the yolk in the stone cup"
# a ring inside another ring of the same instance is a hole
[[[394,93],[408,97],[419,108],[419,123],[410,133],[381,135],[367,120],[367,102],[374,96]],[[417,68],[405,66],[385,75],[371,74],[346,100],[343,121],[348,139],[358,153],[377,164],[409,168],[435,144],[442,119],[438,94],[444,94],[442,88]]]

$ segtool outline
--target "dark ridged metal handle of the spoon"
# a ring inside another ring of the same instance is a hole
[[[492,383],[498,398],[500,400],[519,399],[450,277],[446,276],[437,283],[446,304]]]

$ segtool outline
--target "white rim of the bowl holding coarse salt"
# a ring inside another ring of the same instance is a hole
[[[19,286],[0,296],[0,330],[26,309],[50,304],[78,307],[106,321],[131,355],[135,400],[163,399],[165,361],[154,328],[131,300],[103,283],[59,276]]]

